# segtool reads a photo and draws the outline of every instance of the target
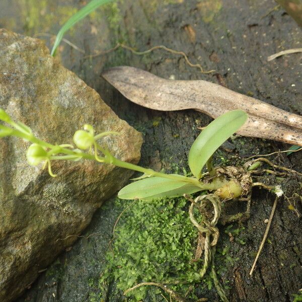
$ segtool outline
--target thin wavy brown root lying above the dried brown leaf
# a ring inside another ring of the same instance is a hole
[[[187,64],[191,67],[194,67],[194,68],[198,68],[200,70],[201,73],[212,73],[214,72],[215,70],[208,70],[208,71],[204,71],[202,66],[200,64],[193,64],[190,62],[190,60],[188,59],[188,56],[183,52],[183,51],[177,51],[177,50],[174,50],[174,49],[171,49],[171,48],[168,48],[164,45],[157,45],[157,46],[154,46],[148,50],[145,50],[145,51],[136,51],[134,48],[130,47],[130,46],[127,46],[127,45],[124,45],[124,44],[121,44],[121,43],[117,43],[113,48],[111,49],[108,49],[108,50],[105,50],[105,51],[100,51],[96,54],[90,54],[90,55],[87,55],[85,56],[85,58],[89,57],[89,58],[94,58],[94,57],[97,57],[99,55],[104,55],[104,54],[107,54],[107,53],[110,53],[110,52],[113,52],[115,51],[116,49],[118,48],[124,48],[124,49],[127,49],[127,50],[130,50],[133,54],[136,54],[136,55],[144,55],[144,54],[147,54],[147,53],[150,53],[156,49],[164,49],[168,52],[171,52],[173,54],[178,54],[178,55],[181,55],[184,57],[184,59],[186,60]]]

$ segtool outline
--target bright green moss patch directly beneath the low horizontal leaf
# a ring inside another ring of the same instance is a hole
[[[107,255],[108,267],[101,284],[113,277],[117,288],[124,291],[140,282],[198,279],[196,272],[202,261],[191,261],[197,230],[189,219],[186,199],[137,200],[123,214],[115,234],[113,253]],[[171,287],[183,293],[188,289],[188,285]],[[142,286],[129,295],[137,301],[149,289]],[[161,293],[157,288],[152,290]],[[157,300],[161,299],[159,295]]]

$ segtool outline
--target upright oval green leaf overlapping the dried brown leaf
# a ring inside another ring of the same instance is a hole
[[[200,179],[207,160],[247,119],[248,115],[243,110],[232,110],[220,115],[202,130],[189,152],[189,167],[197,179]]]

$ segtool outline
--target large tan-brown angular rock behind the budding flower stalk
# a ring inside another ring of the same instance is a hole
[[[0,107],[52,143],[71,143],[85,123],[113,130],[112,153],[140,158],[141,135],[119,119],[37,39],[0,30]],[[28,142],[0,139],[0,301],[11,301],[69,247],[131,171],[89,161],[57,162],[51,178],[26,162]],[[72,235],[72,236],[71,236]]]

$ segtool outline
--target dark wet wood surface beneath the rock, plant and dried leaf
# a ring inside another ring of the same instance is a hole
[[[27,35],[55,34],[63,16],[84,3],[78,0],[2,0],[0,26]],[[124,0],[118,10],[99,9],[66,35],[66,39],[85,54],[63,43],[60,58],[67,68],[95,88],[121,118],[144,134],[141,165],[171,172],[176,163],[188,169],[186,158],[199,133],[197,127],[205,126],[210,118],[193,110],[159,112],[141,108],[106,83],[101,73],[108,67],[130,65],[165,79],[206,80],[302,115],[301,53],[267,62],[269,55],[300,47],[302,43],[301,30],[290,16],[282,9],[270,12],[275,6],[273,0],[185,0],[182,3],[177,0]],[[50,45],[49,38],[45,40]],[[94,59],[85,57],[109,49],[117,42],[137,50],[166,45],[186,52],[193,63],[199,62],[204,69],[216,71],[201,74],[188,66],[181,56],[161,50],[137,56],[118,49]],[[234,155],[248,157],[288,147],[269,140],[237,138],[220,148],[215,160],[219,163],[221,158],[232,160]],[[301,153],[288,158],[280,156],[277,160],[302,172]],[[299,183],[291,186],[300,190]],[[288,210],[285,201],[279,203],[272,222],[271,244],[265,245],[256,270],[249,277],[265,231],[263,221],[269,217],[273,199],[264,190],[254,190],[251,218],[245,223],[246,244],[232,252],[239,260],[223,276],[232,286],[228,292],[231,301],[287,302],[301,287],[302,225],[294,211]],[[296,207],[301,209],[298,201]],[[235,211],[239,208],[240,205],[234,206]],[[96,235],[79,239],[71,251],[41,273],[19,302],[89,301],[92,294],[98,294],[97,281],[89,284],[90,280],[98,280],[105,265],[104,255],[118,214],[112,202],[107,208],[101,208],[84,234]],[[214,289],[205,290],[200,296],[218,301]],[[121,298],[111,297],[110,301],[121,301]]]

